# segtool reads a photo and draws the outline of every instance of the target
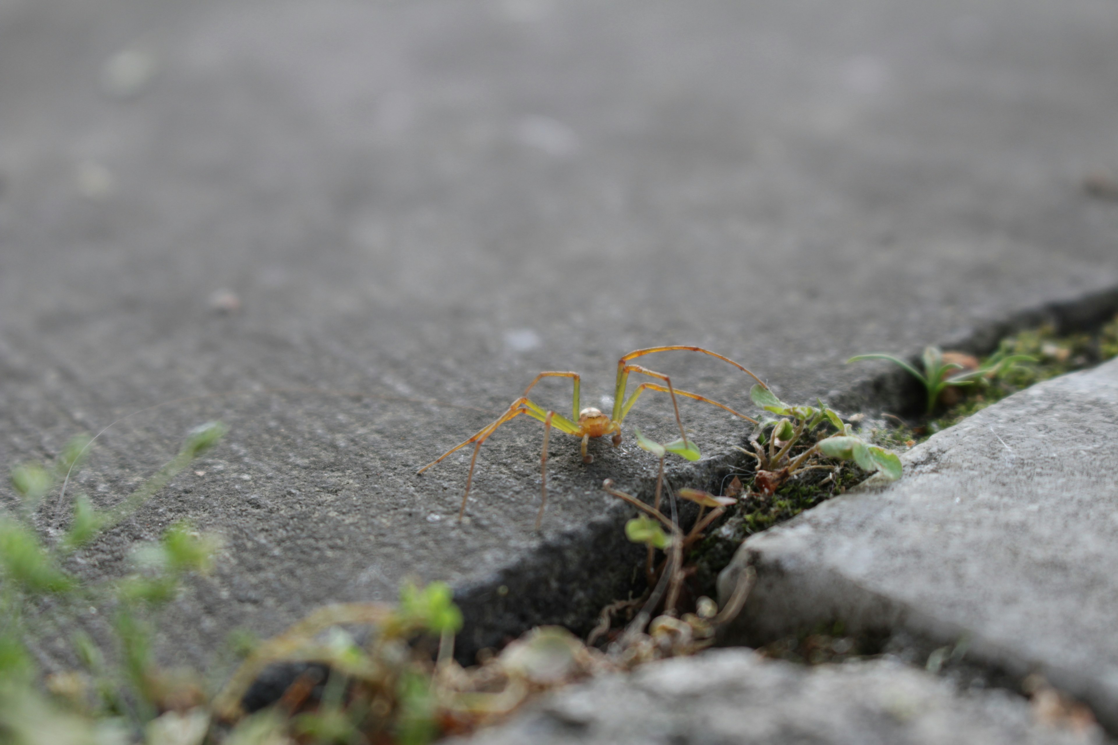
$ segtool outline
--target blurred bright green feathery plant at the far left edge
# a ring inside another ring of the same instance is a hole
[[[27,745],[131,742],[169,700],[183,700],[197,689],[195,679],[164,675],[155,666],[152,623],[158,610],[178,594],[186,575],[209,569],[215,539],[178,522],[158,543],[135,552],[133,574],[102,583],[83,582],[65,563],[139,509],[224,434],[219,422],[191,430],[179,453],[115,507],[97,509],[79,495],[73,500],[69,527],[54,541],[36,529],[36,510],[59,480],[66,483],[92,440],[74,438],[49,466],[21,464],[11,470],[18,503],[15,510],[0,512],[0,741]],[[65,493],[58,496],[64,498]],[[40,613],[44,602],[48,610]],[[110,619],[116,641],[112,660],[84,632],[66,632],[57,625],[56,615],[63,611],[91,606],[105,611],[103,615]],[[39,674],[26,647],[31,622],[68,639],[85,668],[51,676],[47,684],[55,697],[45,697],[35,687]],[[93,726],[92,720],[100,724]],[[54,727],[49,741],[42,739],[44,722]]]

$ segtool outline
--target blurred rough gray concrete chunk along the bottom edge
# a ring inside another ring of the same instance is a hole
[[[453,743],[955,745],[1102,742],[1096,727],[1034,724],[1003,690],[959,695],[894,661],[816,668],[720,649],[652,662],[552,694],[513,719]]]

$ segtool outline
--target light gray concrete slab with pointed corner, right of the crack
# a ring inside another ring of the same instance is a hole
[[[934,436],[907,476],[746,541],[758,582],[737,636],[821,621],[965,639],[1041,672],[1118,728],[1118,361],[1022,391]]]

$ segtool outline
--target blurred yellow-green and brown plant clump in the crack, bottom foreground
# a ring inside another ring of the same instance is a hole
[[[257,742],[262,714],[245,716],[241,700],[271,665],[318,662],[329,678],[321,701],[315,682],[296,679],[273,709],[274,742],[294,732],[300,742],[427,745],[447,728],[462,733],[506,716],[534,691],[553,688],[610,666],[566,629],[538,628],[475,668],[444,653],[446,633],[462,614],[442,583],[406,584],[398,605],[342,603],[321,608],[287,631],[260,643],[210,704],[216,719],[233,726],[222,742]],[[366,627],[358,644],[342,629]],[[453,636],[452,636],[453,638]],[[426,642],[439,639],[432,659]],[[283,715],[291,718],[286,722]],[[241,741],[241,733],[246,739]],[[273,741],[266,741],[273,742]]]

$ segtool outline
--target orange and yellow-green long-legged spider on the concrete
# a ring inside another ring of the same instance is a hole
[[[617,386],[616,390],[614,391],[614,410],[613,413],[607,417],[606,414],[604,414],[598,409],[595,409],[594,407],[579,409],[578,388],[580,379],[578,373],[546,371],[541,372],[539,375],[536,376],[536,379],[529,384],[529,386],[524,389],[523,395],[521,395],[519,399],[509,404],[509,408],[505,410],[503,414],[501,414],[501,417],[496,421],[486,427],[483,427],[472,438],[454,446],[453,448],[440,455],[438,458],[436,458],[435,460],[430,461],[429,464],[420,468],[418,471],[416,471],[416,474],[417,475],[423,474],[432,466],[444,460],[447,456],[461,450],[462,448],[466,447],[470,443],[474,443],[474,455],[470,459],[470,475],[466,477],[466,491],[465,494],[462,495],[462,507],[458,509],[458,522],[462,522],[462,517],[463,515],[465,515],[466,512],[466,498],[470,497],[470,485],[473,483],[474,479],[474,466],[477,464],[477,451],[481,450],[482,442],[489,439],[489,437],[493,432],[495,432],[496,429],[501,427],[501,424],[512,421],[520,414],[528,414],[532,419],[538,419],[539,421],[543,422],[543,452],[540,456],[540,471],[541,471],[540,512],[536,516],[536,529],[538,531],[543,519],[543,507],[547,505],[548,502],[548,440],[551,437],[551,428],[555,428],[566,434],[581,438],[582,462],[585,464],[591,462],[594,460],[594,456],[589,455],[586,450],[587,446],[590,442],[590,438],[605,437],[607,434],[612,434],[614,447],[616,448],[618,445],[620,445],[622,422],[625,421],[625,416],[628,414],[629,409],[633,408],[633,404],[636,403],[636,400],[641,397],[641,393],[643,393],[645,389],[651,389],[653,391],[661,391],[662,393],[667,393],[669,395],[672,397],[672,407],[675,410],[675,423],[679,424],[680,437],[682,438],[682,450],[686,450],[694,453],[695,458],[699,457],[698,450],[691,449],[688,443],[688,436],[686,432],[683,430],[683,421],[680,419],[680,405],[675,399],[676,394],[686,397],[689,399],[694,399],[695,401],[705,401],[707,403],[712,403],[719,409],[724,409],[726,411],[729,411],[735,417],[740,417],[741,419],[751,421],[755,424],[758,423],[756,419],[739,413],[723,403],[719,403],[718,401],[708,399],[704,395],[699,395],[698,393],[689,393],[688,391],[681,391],[679,389],[673,388],[672,381],[669,379],[667,375],[663,373],[648,370],[647,367],[643,367],[641,365],[629,364],[629,360],[635,360],[636,357],[641,357],[646,354],[653,354],[655,352],[672,352],[676,350],[684,350],[688,352],[702,352],[703,354],[709,354],[712,357],[718,357],[719,360],[729,362],[738,370],[741,370],[746,374],[750,375],[762,386],[768,388],[767,385],[765,385],[761,379],[759,379],[757,375],[754,375],[754,373],[749,372],[733,360],[730,360],[729,357],[723,357],[721,354],[716,354],[710,350],[704,350],[699,346],[653,346],[646,350],[637,350],[635,352],[629,352],[628,354],[626,354],[625,356],[623,356],[620,360],[617,361]],[[628,374],[631,372],[662,380],[665,384],[660,385],[657,383],[641,383],[636,388],[636,390],[633,391],[633,394],[628,399],[626,399],[625,389],[628,385]],[[574,380],[575,400],[574,400],[574,405],[571,407],[572,413],[570,419],[567,419],[562,414],[559,414],[555,411],[548,411],[528,399],[528,392],[531,391],[532,388],[534,388],[536,384],[539,383],[544,378],[570,378]]]

